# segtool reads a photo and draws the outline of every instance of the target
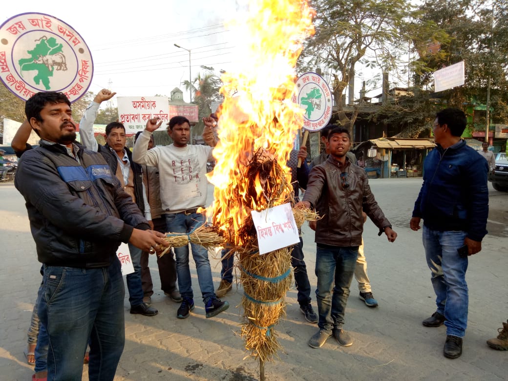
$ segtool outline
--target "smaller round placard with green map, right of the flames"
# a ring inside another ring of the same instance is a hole
[[[332,117],[332,91],[323,77],[316,73],[302,74],[296,81],[297,97],[293,102],[305,110],[303,128],[319,131]]]

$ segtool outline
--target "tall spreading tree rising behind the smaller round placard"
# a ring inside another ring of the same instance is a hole
[[[419,13],[407,0],[316,0],[315,35],[310,38],[299,58],[301,71],[324,66],[332,72],[334,103],[341,124],[353,124],[352,115],[344,111],[344,89],[355,75],[357,63],[397,71],[401,55],[417,40],[434,39],[440,30],[431,22],[418,20]],[[418,33],[417,33],[418,32]]]

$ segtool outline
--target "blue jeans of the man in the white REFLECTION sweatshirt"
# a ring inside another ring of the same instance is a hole
[[[171,233],[190,233],[195,228],[204,224],[205,217],[202,213],[172,213],[166,214],[166,226]],[[190,243],[192,256],[196,263],[198,273],[198,282],[201,289],[203,302],[208,302],[211,298],[216,298],[213,290],[212,269],[208,260],[208,250],[203,246]],[[183,298],[194,298],[192,291],[192,280],[189,269],[189,246],[175,247],[176,273],[178,278],[178,288]]]

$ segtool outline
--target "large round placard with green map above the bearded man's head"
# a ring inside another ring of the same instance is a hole
[[[86,93],[92,75],[88,46],[65,22],[23,13],[0,26],[0,79],[19,98],[60,91],[74,102]]]

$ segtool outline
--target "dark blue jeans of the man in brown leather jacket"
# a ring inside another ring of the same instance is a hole
[[[357,258],[358,246],[317,245],[315,273],[319,328],[331,331],[341,329],[344,325],[347,297]]]

